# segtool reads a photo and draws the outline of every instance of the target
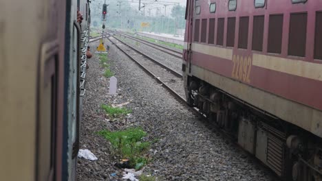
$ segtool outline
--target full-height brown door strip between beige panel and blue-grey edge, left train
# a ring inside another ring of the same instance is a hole
[[[37,73],[36,180],[61,180],[65,2],[43,2],[47,18]]]

